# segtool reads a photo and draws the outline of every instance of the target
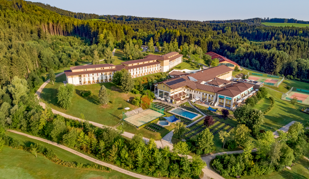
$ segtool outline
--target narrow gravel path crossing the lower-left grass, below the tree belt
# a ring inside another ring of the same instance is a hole
[[[75,154],[75,155],[78,155],[78,156],[80,156],[80,157],[83,157],[84,159],[87,159],[87,160],[89,160],[89,161],[92,161],[92,162],[94,162],[94,163],[96,163],[96,164],[106,166],[106,167],[108,167],[108,168],[111,168],[111,169],[113,169],[113,170],[116,170],[116,171],[118,171],[118,172],[124,173],[124,174],[129,175],[129,176],[132,176],[132,177],[141,178],[141,179],[155,179],[154,177],[148,177],[148,176],[144,176],[144,175],[141,175],[141,174],[133,173],[133,172],[130,172],[130,171],[128,171],[128,170],[125,170],[125,169],[122,169],[122,168],[120,168],[120,167],[117,167],[117,166],[115,166],[115,165],[108,164],[108,163],[102,162],[102,161],[100,161],[100,160],[96,160],[96,159],[94,159],[94,158],[92,158],[92,157],[90,157],[90,156],[87,156],[87,155],[85,155],[85,154],[82,154],[82,153],[77,152],[77,151],[75,151],[75,150],[73,150],[73,149],[71,149],[71,148],[68,148],[68,147],[66,147],[66,146],[64,146],[64,145],[58,144],[58,143],[53,142],[53,141],[50,141],[50,140],[42,139],[42,138],[40,138],[40,137],[36,137],[36,136],[33,136],[33,135],[28,135],[28,134],[25,134],[25,133],[22,133],[22,132],[18,132],[18,131],[13,131],[13,130],[10,130],[10,129],[8,129],[7,131],[13,132],[13,133],[19,134],[19,135],[24,135],[24,136],[26,136],[26,137],[29,137],[29,138],[32,138],[32,139],[36,139],[36,140],[40,140],[40,141],[42,141],[42,142],[46,142],[46,143],[48,143],[48,144],[57,146],[57,147],[62,148],[62,149],[64,149],[64,150],[68,151],[68,152],[71,152],[71,153],[73,153],[73,154]]]

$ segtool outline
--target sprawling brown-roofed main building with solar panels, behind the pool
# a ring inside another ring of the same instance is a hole
[[[156,83],[155,96],[179,103],[185,98],[234,109],[239,98],[253,90],[253,84],[230,81],[232,69],[217,66]]]

